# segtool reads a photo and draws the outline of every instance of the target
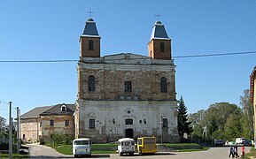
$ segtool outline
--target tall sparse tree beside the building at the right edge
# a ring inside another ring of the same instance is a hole
[[[253,139],[253,105],[250,102],[249,89],[244,90],[244,96],[240,96],[240,104],[243,110],[242,125],[243,133],[242,136],[247,139]]]

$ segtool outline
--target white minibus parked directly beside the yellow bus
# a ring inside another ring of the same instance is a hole
[[[118,140],[118,153],[119,155],[134,155],[135,153],[135,140],[131,138],[122,138]]]

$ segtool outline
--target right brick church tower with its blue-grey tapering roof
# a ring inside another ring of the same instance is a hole
[[[164,25],[156,21],[148,43],[149,57],[155,59],[172,59],[171,39],[167,35]]]

